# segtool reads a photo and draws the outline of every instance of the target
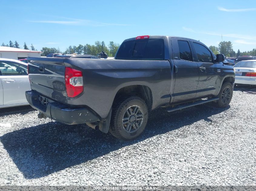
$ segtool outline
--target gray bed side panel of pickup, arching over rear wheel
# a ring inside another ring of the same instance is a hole
[[[65,59],[64,64],[83,72],[84,91],[69,98],[72,105],[86,105],[105,119],[116,93],[130,85],[151,89],[152,109],[170,101],[171,66],[166,60]]]

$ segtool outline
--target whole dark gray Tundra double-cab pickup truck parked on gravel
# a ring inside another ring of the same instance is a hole
[[[130,140],[146,127],[148,113],[213,102],[227,107],[235,71],[203,43],[182,37],[126,39],[114,60],[28,58],[29,104],[39,118],[86,123]]]

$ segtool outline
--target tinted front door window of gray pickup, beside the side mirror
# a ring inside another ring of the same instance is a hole
[[[212,62],[211,53],[206,47],[194,42],[193,45],[196,51],[198,62]]]

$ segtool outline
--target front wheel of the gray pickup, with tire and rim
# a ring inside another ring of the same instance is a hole
[[[221,90],[218,94],[219,100],[215,103],[216,107],[224,108],[228,107],[233,96],[233,87],[230,82],[225,82],[221,86]]]

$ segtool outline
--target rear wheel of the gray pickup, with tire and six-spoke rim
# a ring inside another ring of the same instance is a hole
[[[109,132],[116,138],[132,140],[141,135],[147,122],[148,107],[145,101],[140,97],[126,97],[113,106]]]

